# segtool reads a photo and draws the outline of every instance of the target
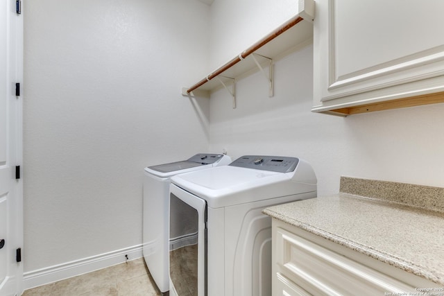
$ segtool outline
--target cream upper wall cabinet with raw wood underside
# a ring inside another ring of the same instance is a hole
[[[442,0],[316,0],[312,111],[444,102],[443,14]]]

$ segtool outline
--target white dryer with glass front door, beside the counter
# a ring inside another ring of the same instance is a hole
[[[271,218],[262,209],[307,198],[316,198],[316,175],[296,157],[247,155],[172,177],[171,295],[271,295]]]

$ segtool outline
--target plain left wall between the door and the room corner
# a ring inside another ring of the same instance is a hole
[[[209,6],[32,0],[23,15],[25,272],[140,245],[143,168],[208,150],[209,103],[180,89],[206,66]]]

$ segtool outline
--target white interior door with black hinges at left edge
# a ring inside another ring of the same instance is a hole
[[[0,1],[0,296],[21,295],[23,267],[17,249],[23,245],[22,163],[23,26],[16,0]]]

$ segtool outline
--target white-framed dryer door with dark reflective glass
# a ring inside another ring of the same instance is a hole
[[[206,211],[205,200],[171,184],[169,273],[172,295],[206,295]]]

